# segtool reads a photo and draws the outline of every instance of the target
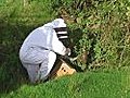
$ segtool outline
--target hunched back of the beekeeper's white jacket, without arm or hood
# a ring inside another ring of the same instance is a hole
[[[41,26],[36,28],[24,40],[20,50],[20,56],[23,56],[23,51],[27,51],[29,48],[37,48],[39,51],[42,49],[50,50],[52,36],[52,29],[49,27]]]

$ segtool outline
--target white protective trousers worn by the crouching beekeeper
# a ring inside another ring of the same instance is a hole
[[[39,79],[47,79],[55,60],[56,54],[53,51],[44,50],[43,52],[40,52],[35,49],[31,49],[26,53],[26,57],[21,58],[31,83]]]

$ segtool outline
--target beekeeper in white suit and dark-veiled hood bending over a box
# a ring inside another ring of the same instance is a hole
[[[69,56],[60,38],[67,38],[66,24],[63,19],[56,19],[34,29],[24,40],[20,49],[20,59],[27,70],[32,83],[44,81],[56,60],[56,53]],[[58,37],[57,37],[58,35]]]

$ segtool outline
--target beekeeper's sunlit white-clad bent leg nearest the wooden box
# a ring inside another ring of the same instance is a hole
[[[44,81],[48,78],[48,75],[52,70],[55,60],[56,60],[56,54],[50,51],[48,59],[43,60],[43,62],[41,63],[40,70],[38,72],[40,79]]]

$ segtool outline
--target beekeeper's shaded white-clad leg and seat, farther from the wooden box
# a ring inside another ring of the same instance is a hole
[[[48,56],[49,50],[40,50],[39,48],[30,48],[27,54],[21,58],[21,61],[28,72],[30,82],[35,83],[39,81],[38,71],[39,64],[41,64]],[[24,52],[23,52],[24,53]]]

